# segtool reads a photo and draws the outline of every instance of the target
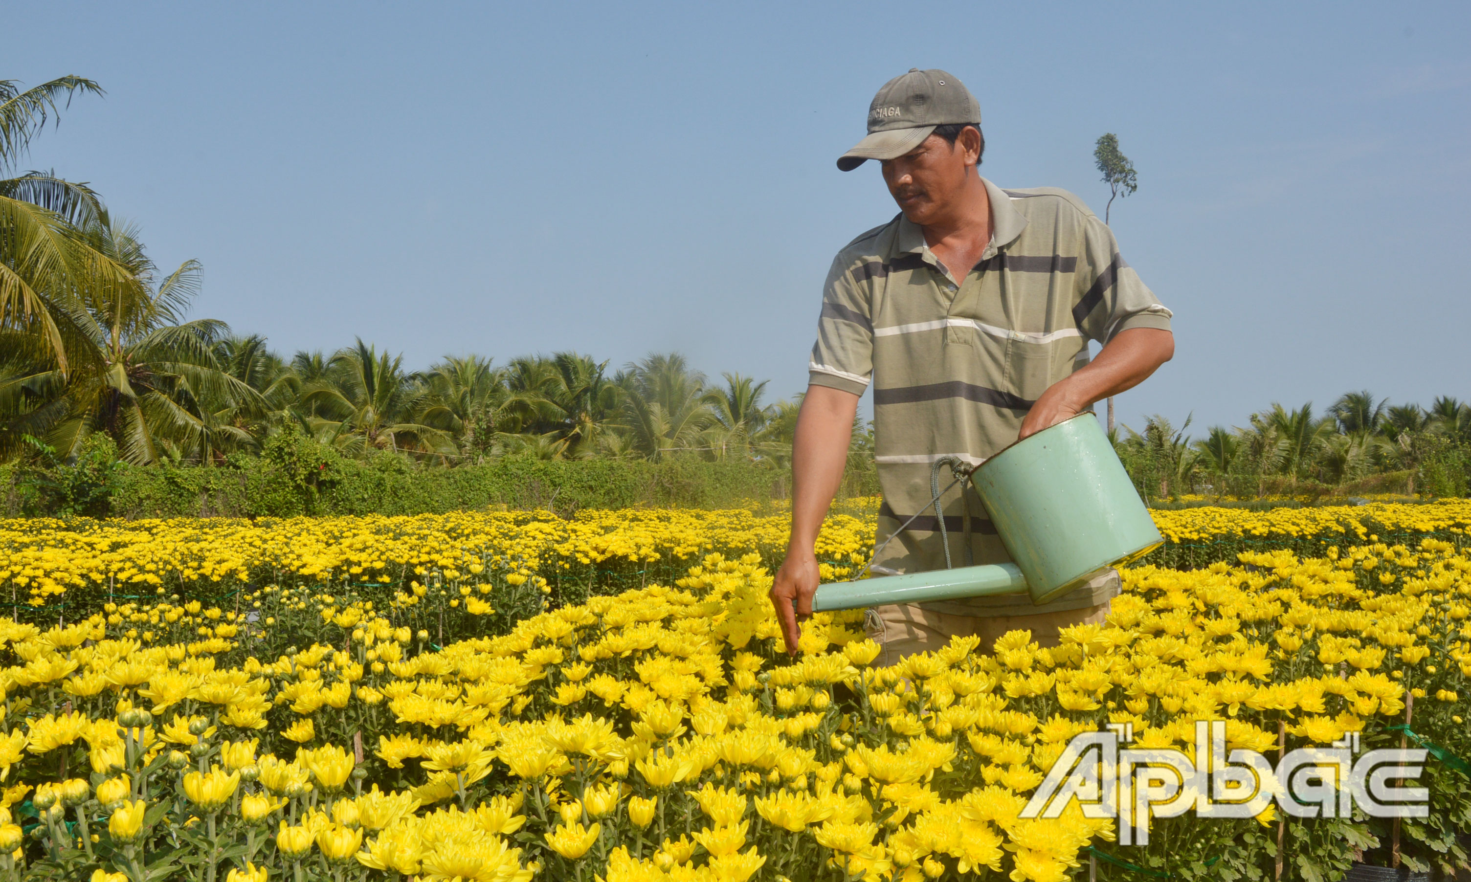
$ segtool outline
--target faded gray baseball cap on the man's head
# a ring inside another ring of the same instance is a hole
[[[884,84],[868,106],[868,137],[837,157],[850,172],[869,159],[896,159],[918,147],[937,125],[981,125],[981,104],[944,71],[909,68]]]

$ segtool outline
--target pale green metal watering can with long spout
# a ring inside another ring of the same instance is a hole
[[[1165,541],[1091,413],[1003,448],[971,482],[1015,563],[821,585],[812,610],[1021,592],[1041,604]]]

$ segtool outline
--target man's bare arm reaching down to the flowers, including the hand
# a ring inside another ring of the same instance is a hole
[[[843,481],[856,413],[858,395],[819,385],[808,387],[797,412],[797,431],[791,441],[791,538],[769,594],[781,619],[787,653],[793,656],[802,637],[797,622],[812,616],[812,595],[821,581],[813,547]]]

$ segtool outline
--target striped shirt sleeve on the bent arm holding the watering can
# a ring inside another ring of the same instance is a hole
[[[1078,281],[1084,290],[1078,304],[1072,307],[1072,318],[1083,335],[1106,345],[1115,334],[1128,328],[1169,331],[1174,313],[1159,303],[1134,268],[1119,256],[1114,231],[1090,213],[1083,234],[1087,268],[1078,272]]]

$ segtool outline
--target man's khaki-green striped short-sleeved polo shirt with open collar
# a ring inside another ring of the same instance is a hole
[[[1118,256],[1109,228],[1083,201],[1050,187],[1000,190],[986,181],[991,241],[958,273],[922,231],[896,216],[858,237],[833,262],[822,295],[812,385],[862,394],[874,384],[874,435],[884,503],[877,542],[931,498],[930,467],[958,457],[980,465],[1016,440],[1041,392],[1089,363],[1089,341],[1127,328],[1169,329],[1171,313]],[[949,469],[941,487],[950,482]],[[969,484],[975,563],[1009,560]],[[964,566],[961,488],[941,500],[955,566]],[[944,569],[934,509],[883,551],[875,566]],[[1022,595],[925,604],[969,616],[1022,616],[1103,603],[1094,584],[1044,604]]]

